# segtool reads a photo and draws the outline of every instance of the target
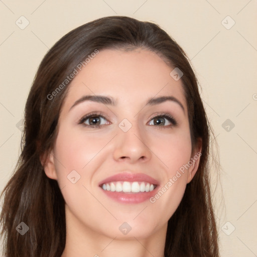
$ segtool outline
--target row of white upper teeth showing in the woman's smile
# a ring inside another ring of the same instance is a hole
[[[103,190],[111,192],[124,192],[124,193],[139,193],[139,192],[151,192],[155,189],[155,185],[147,182],[110,182],[101,186]]]

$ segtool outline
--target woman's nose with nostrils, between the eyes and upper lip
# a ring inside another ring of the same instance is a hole
[[[152,152],[148,146],[146,133],[139,125],[132,124],[129,131],[124,132],[117,127],[118,135],[115,137],[113,158],[115,161],[129,163],[147,162],[151,159]]]

